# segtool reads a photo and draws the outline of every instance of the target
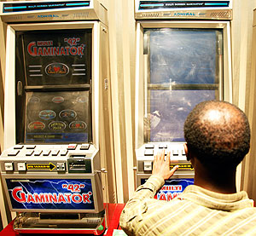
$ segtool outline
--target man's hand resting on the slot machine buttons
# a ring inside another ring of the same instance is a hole
[[[167,153],[165,160],[165,150],[157,153],[154,156],[154,164],[152,174],[162,176],[164,180],[168,180],[173,176],[174,172],[177,170],[178,165],[175,165],[172,170],[170,170],[170,153]]]

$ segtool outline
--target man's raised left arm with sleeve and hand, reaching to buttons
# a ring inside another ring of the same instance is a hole
[[[154,156],[152,176],[142,186],[138,187],[132,198],[125,204],[120,216],[120,227],[127,234],[134,234],[135,227],[143,220],[143,214],[147,212],[148,206],[145,199],[153,199],[154,195],[177,170],[175,166],[170,170],[170,153],[165,160],[165,151]]]

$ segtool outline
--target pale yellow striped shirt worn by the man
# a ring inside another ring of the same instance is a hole
[[[256,208],[247,193],[223,194],[189,185],[172,201],[154,199],[164,185],[150,176],[120,216],[129,235],[256,235]]]

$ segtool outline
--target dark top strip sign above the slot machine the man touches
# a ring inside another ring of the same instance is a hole
[[[139,10],[147,9],[191,9],[191,8],[224,8],[230,1],[140,1]]]

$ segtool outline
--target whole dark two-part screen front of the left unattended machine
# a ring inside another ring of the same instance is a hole
[[[15,34],[17,143],[91,142],[92,29]]]

